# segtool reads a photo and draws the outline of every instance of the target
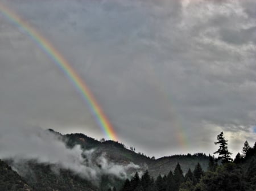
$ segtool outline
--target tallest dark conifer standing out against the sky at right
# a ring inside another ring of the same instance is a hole
[[[228,163],[232,161],[232,158],[230,155],[232,154],[231,152],[228,151],[228,141],[225,140],[223,132],[221,132],[219,135],[217,135],[217,142],[214,142],[215,145],[220,145],[220,148],[214,154],[218,154],[218,159],[221,159],[221,163]]]

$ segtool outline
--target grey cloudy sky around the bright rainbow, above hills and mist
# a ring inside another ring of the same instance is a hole
[[[234,155],[256,132],[254,0],[0,0],[86,82],[118,141],[149,156]],[[0,13],[0,128],[105,137],[88,105]],[[106,138],[106,137],[105,137]]]

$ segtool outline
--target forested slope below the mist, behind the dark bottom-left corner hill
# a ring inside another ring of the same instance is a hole
[[[13,164],[11,160],[9,163]],[[30,160],[25,163],[13,165],[23,179],[36,191],[98,190],[90,181],[82,179],[78,175],[74,175],[71,171],[57,169],[55,165],[52,164],[38,164],[36,161]]]

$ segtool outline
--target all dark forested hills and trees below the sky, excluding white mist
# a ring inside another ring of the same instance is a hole
[[[87,179],[72,169],[62,168],[55,163],[39,163],[36,159],[17,163],[14,159],[0,160],[0,190],[19,191],[255,191],[256,190],[256,145],[250,147],[247,141],[242,154],[230,158],[227,141],[221,132],[218,135],[220,149],[218,158],[202,153],[165,156],[154,159],[128,149],[122,143],[97,141],[84,134],[61,135],[53,130],[57,139],[68,148],[80,145],[84,151],[92,151],[92,160],[104,153],[104,159],[112,164],[137,164],[140,168],[126,170],[127,178],[98,174]],[[86,156],[85,163],[86,163]],[[96,160],[97,161],[97,160]],[[221,164],[222,162],[222,164]],[[73,163],[72,163],[73,165]],[[101,164],[96,162],[100,168]],[[17,171],[13,171],[13,169]],[[88,166],[89,167],[89,166]],[[108,168],[106,168],[108,170]],[[139,173],[135,173],[135,172]]]

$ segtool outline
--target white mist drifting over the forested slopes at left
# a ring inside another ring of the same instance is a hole
[[[80,145],[68,148],[59,135],[41,128],[1,129],[0,134],[0,158],[13,160],[14,169],[15,164],[36,160],[39,164],[55,165],[54,172],[67,169],[98,182],[102,175],[126,179],[127,171],[139,168],[133,163],[114,164],[104,154],[97,156],[95,150],[82,150]]]

